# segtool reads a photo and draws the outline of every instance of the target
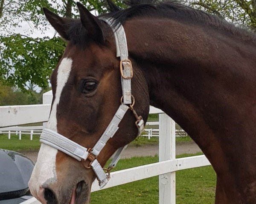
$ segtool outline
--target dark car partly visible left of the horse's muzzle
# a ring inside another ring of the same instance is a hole
[[[34,165],[20,153],[0,149],[0,204],[19,204],[32,198],[28,182]]]

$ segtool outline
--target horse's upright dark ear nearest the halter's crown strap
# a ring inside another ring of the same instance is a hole
[[[88,31],[90,38],[96,42],[103,43],[104,37],[102,29],[99,26],[99,20],[90,13],[81,3],[77,2],[77,7],[79,9],[81,23],[84,28]]]

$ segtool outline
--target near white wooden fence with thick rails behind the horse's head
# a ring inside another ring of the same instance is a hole
[[[43,96],[44,105],[0,107],[0,127],[47,121],[51,100],[51,92],[47,92]],[[210,163],[204,155],[176,159],[175,122],[160,109],[151,107],[150,113],[159,113],[159,162],[113,172],[110,181],[103,189],[159,176],[159,204],[175,204],[175,172],[207,166]],[[99,189],[96,181],[93,183],[92,192],[98,190],[102,189]],[[40,204],[40,202],[32,198],[23,204]]]

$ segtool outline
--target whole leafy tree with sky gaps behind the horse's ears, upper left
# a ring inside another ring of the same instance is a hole
[[[80,2],[98,14],[107,11],[105,0]],[[116,2],[121,5],[122,0]],[[35,30],[44,33],[50,27],[42,7],[64,17],[79,17],[76,0],[0,0],[0,80],[23,91],[29,88],[28,84],[48,87],[49,76],[66,45],[56,36],[31,37]],[[15,28],[24,22],[31,26],[27,34],[15,33]]]

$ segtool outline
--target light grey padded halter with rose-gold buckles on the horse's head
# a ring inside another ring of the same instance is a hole
[[[115,21],[113,18],[102,20],[108,23],[109,26],[113,25]],[[40,136],[41,143],[47,144],[55,149],[66,153],[69,156],[72,156],[78,161],[81,161],[85,168],[92,168],[99,181],[100,188],[104,187],[108,183],[108,180],[110,179],[110,171],[111,169],[113,169],[113,167],[116,166],[117,162],[120,159],[122,151],[126,148],[127,145],[125,147],[120,147],[116,151],[116,154],[107,169],[102,168],[102,166],[99,164],[99,161],[97,160],[97,156],[99,155],[103,147],[105,147],[108,140],[112,138],[118,130],[118,125],[121,122],[122,118],[125,116],[125,113],[128,109],[131,109],[136,118],[135,125],[138,128],[138,135],[140,135],[144,129],[143,118],[141,116],[138,116],[133,108],[135,102],[134,96],[132,96],[131,94],[131,78],[133,77],[133,69],[131,61],[128,59],[128,48],[125,30],[120,23],[115,28],[112,28],[112,30],[116,42],[116,57],[120,57],[122,98],[121,105],[113,116],[113,119],[111,120],[107,129],[100,137],[99,141],[92,149],[87,149],[86,147],[82,147],[80,144],[73,142],[67,137],[46,128],[42,131],[42,134]],[[86,166],[85,164],[85,161],[87,160],[90,161],[89,166]]]

